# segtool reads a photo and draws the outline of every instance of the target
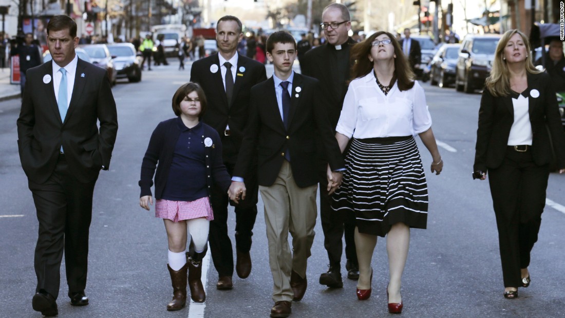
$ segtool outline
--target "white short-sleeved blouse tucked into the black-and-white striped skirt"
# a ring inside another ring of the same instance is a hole
[[[395,82],[385,95],[371,71],[349,84],[336,131],[349,138],[363,139],[412,136],[430,127],[432,117],[418,81],[403,92]]]

